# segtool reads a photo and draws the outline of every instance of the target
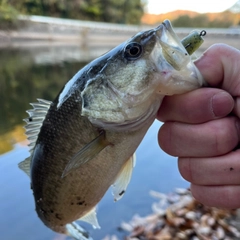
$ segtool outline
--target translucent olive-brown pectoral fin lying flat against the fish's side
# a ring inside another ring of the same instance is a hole
[[[105,132],[102,131],[99,136],[93,139],[83,147],[67,164],[63,171],[62,177],[65,177],[73,170],[79,168],[84,163],[93,159],[95,155],[101,152],[110,143],[106,140]]]

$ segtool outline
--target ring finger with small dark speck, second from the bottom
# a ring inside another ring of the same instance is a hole
[[[178,167],[187,181],[197,185],[240,185],[240,151],[212,158],[179,158]]]

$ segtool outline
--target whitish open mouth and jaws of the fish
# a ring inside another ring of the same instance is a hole
[[[156,44],[151,53],[160,94],[181,94],[203,85],[203,78],[169,20],[154,29]],[[161,80],[160,80],[161,79]]]

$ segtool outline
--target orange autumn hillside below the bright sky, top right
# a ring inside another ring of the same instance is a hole
[[[201,27],[201,28],[228,28],[233,25],[231,19],[209,19],[207,14],[199,14],[195,17],[182,15],[172,21],[174,27]]]

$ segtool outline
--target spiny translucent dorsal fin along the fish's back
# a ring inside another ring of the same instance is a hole
[[[48,109],[50,108],[52,103],[44,99],[38,98],[37,100],[37,103],[30,103],[33,106],[33,109],[27,111],[29,118],[23,119],[27,123],[24,128],[26,129],[25,134],[27,135],[27,139],[29,141],[28,147],[30,157],[18,164],[19,168],[22,169],[29,176],[32,151],[35,147],[43,120],[45,119]]]

